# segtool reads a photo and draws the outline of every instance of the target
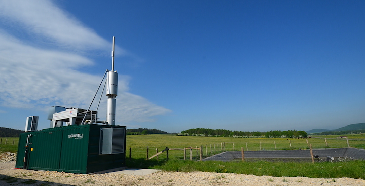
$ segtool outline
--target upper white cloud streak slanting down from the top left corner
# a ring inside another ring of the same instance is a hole
[[[58,46],[77,50],[109,47],[94,30],[47,0],[0,1],[0,16]]]

